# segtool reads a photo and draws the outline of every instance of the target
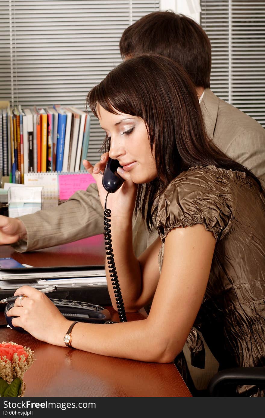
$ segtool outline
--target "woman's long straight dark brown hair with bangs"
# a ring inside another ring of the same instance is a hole
[[[136,212],[149,229],[157,212],[156,197],[170,181],[193,166],[211,166],[247,173],[247,168],[225,155],[208,139],[196,89],[184,69],[169,58],[142,54],[124,61],[87,95],[97,115],[97,104],[111,113],[141,117],[147,127],[157,178],[139,184]],[[109,150],[107,139],[103,150]],[[260,186],[261,187],[261,186]]]

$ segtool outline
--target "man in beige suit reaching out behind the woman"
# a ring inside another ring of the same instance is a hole
[[[151,13],[124,31],[120,50],[124,59],[152,51],[182,64],[196,85],[209,138],[257,177],[265,178],[265,131],[258,122],[216,97],[209,89],[211,45],[200,25],[171,12]],[[67,202],[52,210],[18,219],[0,217],[0,244],[13,243],[21,252],[101,233],[103,209],[95,184],[86,191],[77,191]],[[147,232],[140,216],[134,219],[136,255],[156,237],[156,231]]]

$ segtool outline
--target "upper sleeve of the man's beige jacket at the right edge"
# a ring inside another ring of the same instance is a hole
[[[242,131],[232,140],[225,153],[265,180],[265,131]]]

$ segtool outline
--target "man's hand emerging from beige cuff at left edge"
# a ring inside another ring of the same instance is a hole
[[[0,215],[0,245],[26,240],[27,231],[23,222]]]

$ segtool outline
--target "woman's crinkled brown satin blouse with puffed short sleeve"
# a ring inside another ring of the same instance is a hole
[[[265,195],[245,173],[215,166],[181,173],[160,196],[157,229],[163,262],[167,233],[203,224],[216,238],[205,296],[187,344],[203,368],[201,331],[219,370],[265,367]],[[243,396],[264,396],[240,386]]]

